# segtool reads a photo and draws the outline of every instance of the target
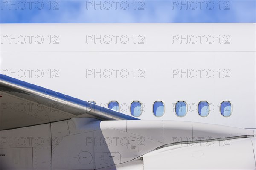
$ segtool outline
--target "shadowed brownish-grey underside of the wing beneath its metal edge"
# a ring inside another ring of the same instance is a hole
[[[0,98],[1,130],[44,124],[76,116],[2,91],[0,95],[2,96]]]

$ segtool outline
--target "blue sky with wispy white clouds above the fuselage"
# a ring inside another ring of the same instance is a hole
[[[0,0],[0,23],[256,22],[256,0]]]

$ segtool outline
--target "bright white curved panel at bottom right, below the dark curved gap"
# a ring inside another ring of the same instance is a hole
[[[223,146],[225,143],[227,145]],[[169,146],[142,157],[144,170],[255,170],[256,168],[250,138],[223,140],[221,143],[218,141],[183,144],[176,148]]]

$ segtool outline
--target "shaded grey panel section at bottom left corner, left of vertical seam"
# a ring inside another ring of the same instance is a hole
[[[1,170],[51,170],[51,125],[0,131]]]

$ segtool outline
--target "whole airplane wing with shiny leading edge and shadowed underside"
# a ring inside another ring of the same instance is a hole
[[[129,115],[0,74],[0,130],[74,117],[136,120]]]

